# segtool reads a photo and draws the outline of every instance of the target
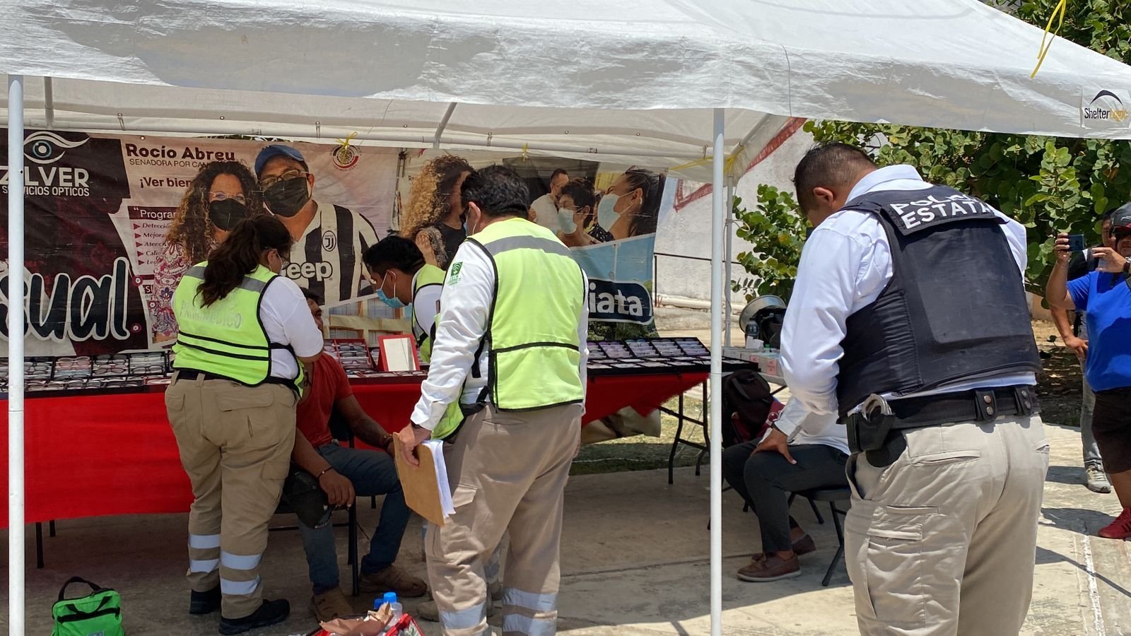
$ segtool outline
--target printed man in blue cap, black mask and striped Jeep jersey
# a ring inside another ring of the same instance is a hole
[[[283,275],[327,304],[372,293],[362,255],[377,232],[362,215],[314,200],[314,175],[302,153],[280,144],[259,151],[256,177],[264,203],[295,240]]]

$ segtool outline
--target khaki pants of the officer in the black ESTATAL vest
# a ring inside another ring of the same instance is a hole
[[[864,636],[1016,636],[1033,595],[1048,470],[1038,415],[905,431],[848,459],[845,560]]]

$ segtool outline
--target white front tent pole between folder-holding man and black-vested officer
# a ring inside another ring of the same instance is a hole
[[[710,633],[723,636],[723,126],[715,109],[710,250]]]

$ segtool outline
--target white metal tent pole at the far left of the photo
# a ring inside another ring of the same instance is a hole
[[[24,636],[24,78],[8,76],[8,635]]]

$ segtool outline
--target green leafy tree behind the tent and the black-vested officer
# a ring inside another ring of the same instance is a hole
[[[1001,0],[1017,17],[1042,28],[1056,0]],[[1016,6],[1015,6],[1016,5]],[[1060,34],[1083,46],[1131,63],[1131,3],[1119,0],[1073,0]],[[1036,53],[1038,42],[1034,42]],[[1063,42],[1054,43],[1052,53]],[[1029,289],[1043,291],[1052,269],[1057,232],[1099,239],[1099,216],[1131,200],[1131,143],[1034,135],[1000,135],[840,121],[810,121],[805,131],[819,143],[844,141],[865,147],[879,165],[906,163],[924,179],[984,199],[1028,227]],[[762,189],[759,188],[759,197]],[[775,190],[776,192],[776,190]],[[777,204],[775,204],[777,205]],[[759,218],[754,221],[760,222]],[[739,237],[762,251],[777,232],[761,225],[740,226]],[[789,226],[783,226],[783,229]],[[745,235],[743,235],[745,232]],[[769,270],[796,267],[796,258]],[[740,260],[751,275],[767,266],[759,258]]]

